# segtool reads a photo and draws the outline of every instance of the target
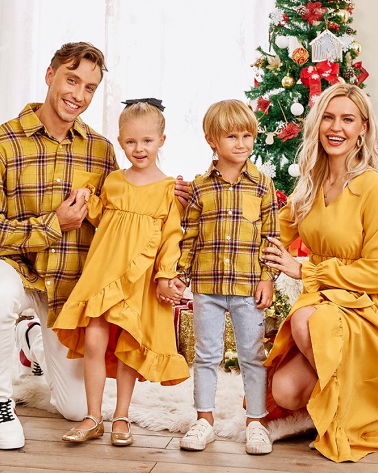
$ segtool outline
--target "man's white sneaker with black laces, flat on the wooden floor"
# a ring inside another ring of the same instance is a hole
[[[21,448],[25,445],[23,428],[16,415],[13,399],[0,402],[0,449]]]

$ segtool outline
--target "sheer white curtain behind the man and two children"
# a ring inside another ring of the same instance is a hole
[[[43,101],[45,71],[69,41],[89,41],[109,72],[83,119],[118,147],[121,100],[156,97],[166,106],[162,168],[192,179],[211,160],[202,132],[213,102],[245,100],[249,64],[268,47],[274,0],[0,0],[0,122]]]

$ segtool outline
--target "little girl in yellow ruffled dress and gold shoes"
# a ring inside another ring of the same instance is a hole
[[[63,435],[69,442],[102,437],[107,376],[117,379],[113,445],[133,442],[128,415],[137,378],[177,384],[189,377],[166,303],[177,303],[185,285],[177,280],[180,289],[168,287],[177,275],[182,230],[175,179],[156,162],[166,138],[164,107],[156,99],[124,103],[118,141],[131,167],[111,173],[100,197],[89,185],[78,189],[76,199],[88,200],[87,219],[98,230],[82,276],[53,327],[69,348],[68,358],[84,356],[88,415]]]

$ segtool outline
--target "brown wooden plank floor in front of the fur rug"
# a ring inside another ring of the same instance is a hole
[[[245,453],[243,443],[216,439],[203,452],[179,449],[179,437],[168,431],[152,432],[132,426],[135,439],[129,447],[110,444],[111,424],[105,423],[102,439],[74,445],[60,440],[74,422],[44,410],[17,406],[25,430],[25,447],[0,451],[0,472],[7,473],[373,473],[378,454],[358,463],[333,463],[309,450],[311,437],[274,443],[269,455]]]

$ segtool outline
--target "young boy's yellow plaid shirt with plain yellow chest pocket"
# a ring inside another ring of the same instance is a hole
[[[279,237],[276,191],[249,160],[236,184],[214,163],[194,179],[182,225],[178,270],[193,292],[253,296],[260,280],[276,278],[259,262],[266,237]]]

